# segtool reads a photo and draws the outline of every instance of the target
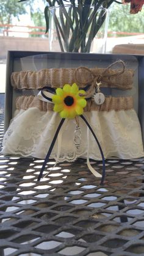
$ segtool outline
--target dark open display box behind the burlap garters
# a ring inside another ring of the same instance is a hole
[[[41,68],[62,67],[108,67],[116,60],[123,60],[126,68],[134,68],[134,88],[131,92],[120,92],[117,89],[104,89],[108,95],[126,95],[134,97],[134,108],[138,114],[144,139],[144,56],[132,54],[89,54],[89,53],[52,53],[35,51],[9,51],[7,55],[6,87],[5,87],[5,121],[7,130],[15,111],[15,98],[28,93],[37,94],[32,90],[22,92],[15,90],[10,84],[13,71],[40,70]],[[120,68],[120,67],[118,67]]]

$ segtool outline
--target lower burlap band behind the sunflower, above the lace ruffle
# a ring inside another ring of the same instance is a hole
[[[46,103],[37,98],[37,96],[20,96],[16,98],[16,109],[28,109],[28,108],[38,108],[40,111],[53,111],[54,104]],[[84,111],[120,111],[128,110],[133,108],[132,97],[106,97],[106,100],[102,105],[96,105],[93,100],[87,101],[87,106]]]

